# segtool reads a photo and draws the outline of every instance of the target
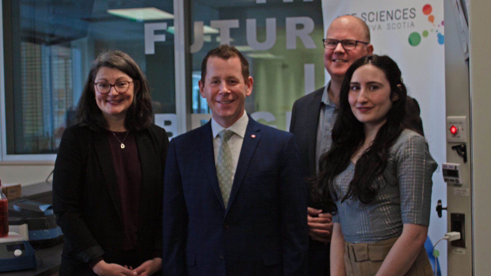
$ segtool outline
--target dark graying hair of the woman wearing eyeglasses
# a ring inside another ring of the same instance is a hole
[[[135,95],[133,103],[125,117],[125,128],[139,131],[152,123],[152,100],[148,90],[148,82],[135,60],[121,51],[109,51],[100,54],[92,63],[89,77],[83,87],[82,96],[77,107],[77,121],[95,131],[108,128],[108,123],[95,101],[93,82],[101,67],[109,67],[122,71],[134,81]]]

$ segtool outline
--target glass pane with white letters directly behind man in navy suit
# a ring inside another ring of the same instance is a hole
[[[191,121],[209,112],[197,82],[202,59],[219,44],[249,61],[246,111],[260,123],[288,130],[295,100],[324,85],[321,0],[191,0],[190,20]]]

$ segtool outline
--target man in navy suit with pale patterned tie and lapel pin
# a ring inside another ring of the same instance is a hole
[[[248,62],[211,50],[199,89],[206,125],[170,141],[164,176],[167,276],[305,276],[307,187],[292,134],[254,121]]]

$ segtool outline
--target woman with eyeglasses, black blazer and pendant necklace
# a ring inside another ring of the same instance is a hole
[[[158,275],[168,138],[148,83],[120,51],[92,64],[55,162],[53,208],[66,242],[59,275]]]

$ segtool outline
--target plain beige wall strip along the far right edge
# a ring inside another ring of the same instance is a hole
[[[491,1],[470,0],[470,96],[474,274],[491,271]]]

